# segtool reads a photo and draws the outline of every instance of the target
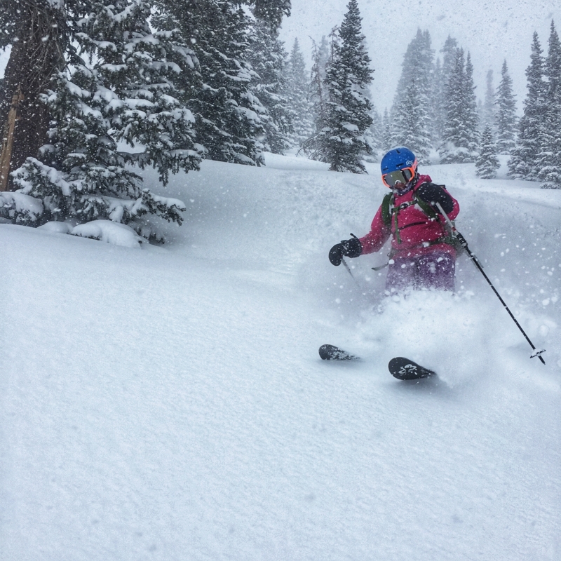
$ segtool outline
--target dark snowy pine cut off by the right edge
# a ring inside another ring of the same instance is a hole
[[[561,189],[561,42],[553,21],[544,65],[546,114],[539,153],[539,178],[543,189]]]

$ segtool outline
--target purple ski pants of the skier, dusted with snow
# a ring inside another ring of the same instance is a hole
[[[435,250],[417,257],[401,257],[389,265],[386,289],[438,288],[454,292],[456,260],[450,253]]]

